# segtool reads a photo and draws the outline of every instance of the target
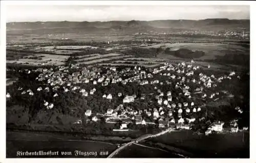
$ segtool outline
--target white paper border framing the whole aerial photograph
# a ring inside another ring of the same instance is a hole
[[[0,107],[0,162],[45,162],[45,161],[61,161],[64,162],[71,162],[71,161],[77,161],[77,162],[131,162],[131,161],[140,161],[141,163],[144,162],[156,162],[156,161],[162,161],[162,162],[226,162],[230,161],[232,163],[234,162],[256,162],[256,152],[255,152],[255,122],[253,121],[256,107],[254,101],[254,97],[256,97],[256,88],[250,87],[250,159],[163,159],[163,158],[155,158],[155,159],[128,159],[128,158],[120,158],[120,159],[101,159],[101,158],[92,158],[92,159],[84,159],[84,158],[45,158],[45,159],[6,159],[6,6],[7,5],[158,5],[158,6],[165,6],[165,5],[250,5],[250,43],[251,45],[256,43],[256,24],[255,24],[255,15],[256,15],[256,2],[243,2],[243,1],[0,1],[1,3],[1,34],[0,34],[0,57],[1,57],[1,70],[0,70],[0,76],[2,76],[1,80],[1,107]],[[20,13],[22,14],[22,13]],[[255,48],[253,46],[250,47],[250,86],[253,86],[251,84],[256,82],[255,79],[255,66],[256,64],[253,64],[253,61],[255,61],[256,56],[253,55],[253,52],[255,53]],[[57,160],[56,160],[57,159]]]

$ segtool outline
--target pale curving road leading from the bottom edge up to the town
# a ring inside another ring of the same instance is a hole
[[[139,143],[140,141],[142,141],[142,140],[145,140],[145,139],[147,139],[147,138],[153,138],[153,137],[158,137],[158,136],[160,136],[160,135],[162,135],[162,134],[164,134],[164,133],[167,133],[167,132],[169,132],[169,131],[172,131],[173,129],[172,128],[168,128],[168,129],[166,129],[166,130],[164,130],[164,131],[161,131],[161,132],[159,132],[159,133],[157,133],[157,134],[145,134],[145,135],[142,135],[141,137],[139,137],[139,138],[137,138],[137,139],[135,139],[135,140],[133,140],[133,141],[131,141],[131,142],[129,142],[129,143],[126,143],[126,144],[124,144],[124,145],[122,145],[121,147],[119,147],[119,148],[117,148],[115,151],[113,151],[107,158],[112,158],[114,155],[116,155],[118,152],[120,152],[121,150],[123,150],[124,148],[126,148],[126,147],[128,147],[128,146],[130,146],[130,145],[132,145],[132,144],[137,144],[137,143]]]

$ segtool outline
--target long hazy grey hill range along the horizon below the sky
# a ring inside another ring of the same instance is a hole
[[[154,20],[154,21],[47,21],[9,22],[7,34],[11,33],[82,33],[82,34],[133,34],[172,31],[221,31],[250,28],[250,20],[204,19],[204,20]]]

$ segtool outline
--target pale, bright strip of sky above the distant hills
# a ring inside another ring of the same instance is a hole
[[[6,21],[250,19],[249,6],[7,6]]]

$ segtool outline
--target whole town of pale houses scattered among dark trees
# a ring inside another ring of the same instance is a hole
[[[73,123],[82,125],[105,121],[113,127],[113,131],[129,131],[134,124],[142,128],[193,129],[206,135],[238,132],[239,115],[244,112],[242,107],[234,107],[238,116],[229,121],[225,119],[224,123],[221,117],[209,118],[212,117],[209,114],[214,113],[208,111],[207,104],[232,98],[234,95],[219,87],[223,87],[223,83],[226,85],[240,80],[240,74],[234,71],[210,74],[204,69],[193,60],[172,64],[165,62],[158,68],[80,67],[79,64],[70,64],[48,69],[24,69],[18,70],[18,73],[26,76],[38,74],[34,79],[38,87],[19,86],[14,92],[8,92],[6,97],[10,101],[15,96],[45,97],[40,98],[39,113],[55,110],[58,107],[55,99],[64,98],[65,94],[73,94],[81,99],[105,100],[105,105],[89,103],[87,108],[83,108],[83,114],[74,113],[80,117]],[[206,69],[210,70],[210,65]],[[68,112],[70,114],[75,110]],[[248,130],[248,126],[240,126],[240,129]]]

